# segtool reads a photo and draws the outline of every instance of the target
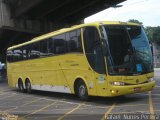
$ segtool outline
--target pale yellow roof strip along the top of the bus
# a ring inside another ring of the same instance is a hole
[[[121,22],[121,21],[99,21],[99,22],[92,22],[92,23],[74,25],[74,26],[71,26],[70,28],[62,28],[60,30],[56,30],[56,31],[53,31],[53,32],[50,32],[50,33],[35,37],[35,38],[31,39],[28,42],[9,47],[7,50],[12,50],[12,49],[17,48],[17,47],[21,47],[21,46],[24,46],[24,45],[27,45],[27,44],[30,44],[30,43],[34,43],[36,41],[40,41],[40,40],[55,36],[55,35],[59,35],[59,34],[65,33],[65,32],[72,31],[74,29],[78,29],[78,28],[82,28],[82,27],[86,27],[86,26],[98,26],[98,25],[101,25],[101,24],[104,24],[104,25],[133,25],[133,26],[140,26],[140,24],[137,24],[137,23]]]

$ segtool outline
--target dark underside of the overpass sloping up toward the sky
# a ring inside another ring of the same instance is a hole
[[[27,0],[17,6],[15,17],[73,23],[122,1],[125,0]]]

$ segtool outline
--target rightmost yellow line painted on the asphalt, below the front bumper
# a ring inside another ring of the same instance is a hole
[[[154,109],[153,109],[153,102],[152,102],[152,93],[151,91],[148,92],[149,94],[149,112],[150,112],[150,119],[155,120],[154,117]]]

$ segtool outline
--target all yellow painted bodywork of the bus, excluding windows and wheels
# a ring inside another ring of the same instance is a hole
[[[129,24],[137,26],[137,24],[134,23],[121,22],[97,22],[91,24],[84,24],[42,35],[33,39],[30,42],[10,47],[8,50],[20,47],[22,45],[30,44],[35,41],[39,41],[57,34],[65,33],[67,31],[83,28],[85,26],[98,27],[100,24]],[[25,83],[25,80],[29,78],[32,85],[49,85],[64,87],[67,86],[70,88],[72,94],[75,93],[74,83],[76,79],[81,78],[87,86],[88,94],[92,96],[112,97],[118,95],[131,94],[135,92],[144,92],[152,90],[155,86],[155,82],[146,83],[146,81],[149,78],[153,77],[153,73],[136,76],[111,76],[106,71],[106,74],[98,74],[95,71],[93,71],[90,65],[88,64],[85,54],[79,53],[70,53],[41,59],[32,59],[27,61],[8,63],[7,72],[8,83],[11,87],[16,87],[19,78],[22,79],[23,84]],[[110,84],[110,82],[112,81],[125,82],[130,85],[112,86]],[[141,87],[141,90],[134,91],[134,88],[136,87]]]

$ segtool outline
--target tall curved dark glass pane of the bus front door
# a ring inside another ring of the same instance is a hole
[[[88,62],[93,70],[105,74],[105,62],[102,45],[96,27],[86,27],[83,32],[84,47]]]

